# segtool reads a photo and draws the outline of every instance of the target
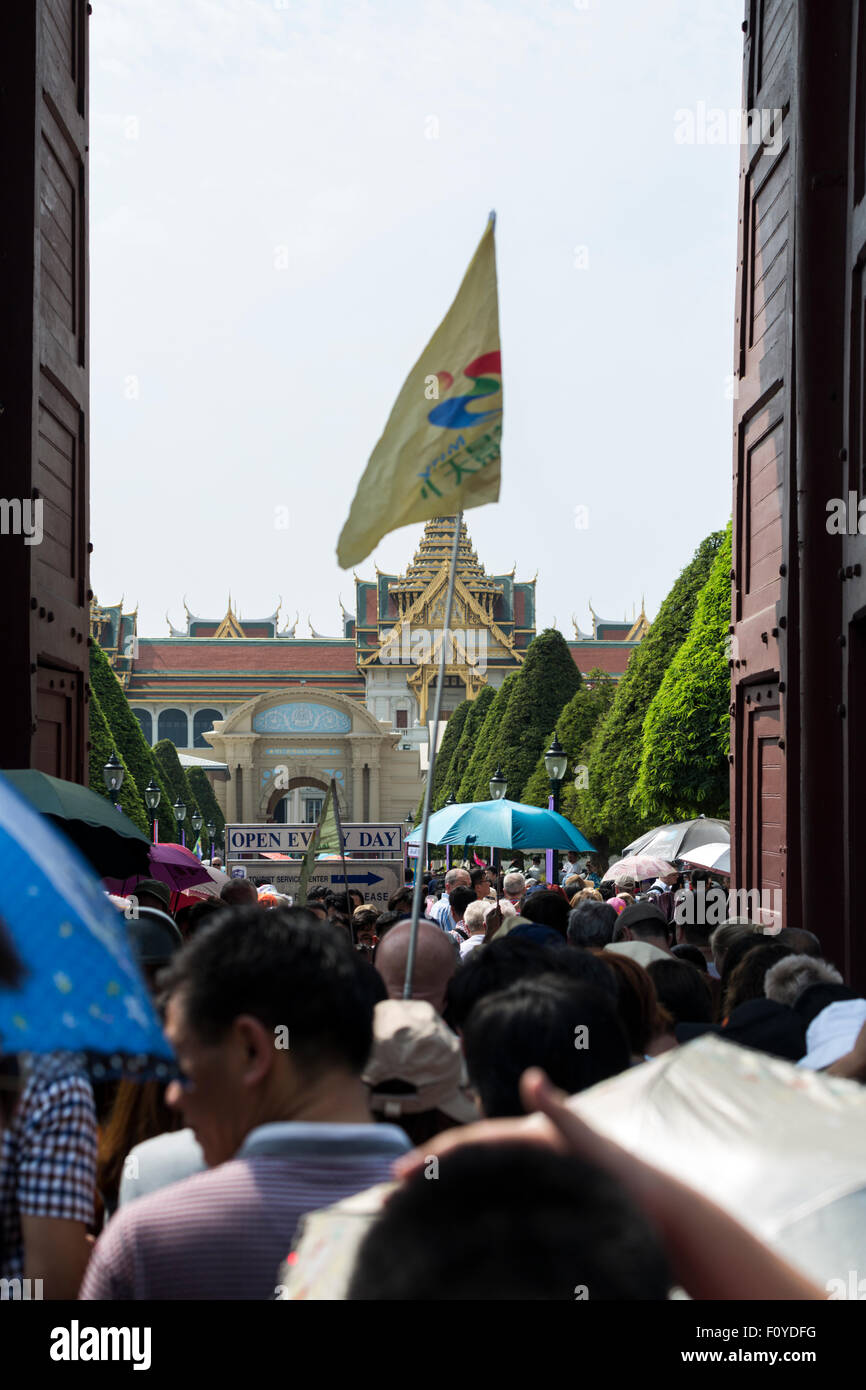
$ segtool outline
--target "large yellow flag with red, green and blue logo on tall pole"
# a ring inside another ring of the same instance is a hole
[[[409,373],[354,493],[338,546],[343,569],[411,521],[499,498],[502,359],[495,218],[448,314]]]

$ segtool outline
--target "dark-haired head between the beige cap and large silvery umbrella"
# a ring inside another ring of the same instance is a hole
[[[562,974],[517,980],[480,999],[463,1027],[463,1051],[488,1119],[524,1113],[520,1077],[528,1066],[573,1095],[631,1061],[613,1001]]]

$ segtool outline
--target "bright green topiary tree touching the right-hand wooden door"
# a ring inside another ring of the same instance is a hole
[[[653,820],[726,816],[730,803],[731,528],[701,594],[688,637],[644,720],[632,803]]]

